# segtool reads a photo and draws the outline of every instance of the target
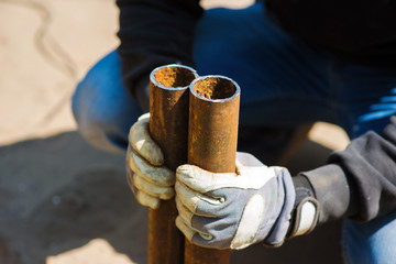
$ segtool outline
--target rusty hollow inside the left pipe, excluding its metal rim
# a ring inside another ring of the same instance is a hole
[[[195,78],[194,72],[178,66],[158,68],[154,73],[154,80],[168,88],[187,87]]]

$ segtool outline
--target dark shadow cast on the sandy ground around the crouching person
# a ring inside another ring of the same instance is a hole
[[[308,141],[289,166],[312,168],[329,152]],[[122,155],[67,132],[0,147],[0,263],[45,263],[96,238],[146,263],[147,213],[127,187]],[[234,252],[232,263],[341,263],[339,239],[340,222],[333,222],[280,249]]]

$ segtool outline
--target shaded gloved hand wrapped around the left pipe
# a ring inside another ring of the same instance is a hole
[[[164,164],[164,155],[148,132],[150,114],[131,127],[127,151],[127,178],[138,201],[152,209],[174,195],[175,172]]]

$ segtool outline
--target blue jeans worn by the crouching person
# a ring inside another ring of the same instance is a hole
[[[261,3],[212,9],[198,24],[194,47],[199,75],[231,77],[241,87],[240,124],[296,127],[324,121],[351,139],[381,132],[396,112],[396,75],[355,65],[286,34]],[[121,82],[116,52],[78,85],[73,111],[81,134],[107,151],[123,151],[142,113]],[[367,223],[345,220],[345,263],[396,260],[396,212]]]

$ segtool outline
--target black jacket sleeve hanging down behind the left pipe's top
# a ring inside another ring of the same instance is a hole
[[[194,66],[195,28],[204,12],[199,0],[117,0],[117,4],[122,79],[132,96],[146,89],[148,75],[157,66]]]

